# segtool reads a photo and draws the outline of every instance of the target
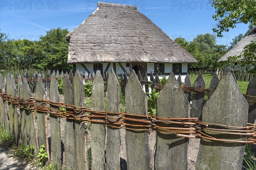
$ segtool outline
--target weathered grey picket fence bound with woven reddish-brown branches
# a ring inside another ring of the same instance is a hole
[[[37,155],[38,147],[44,144],[50,162],[67,169],[89,169],[89,162],[92,170],[120,169],[121,129],[125,129],[129,170],[188,169],[189,138],[201,139],[196,169],[241,170],[245,144],[256,144],[256,77],[243,95],[229,71],[220,79],[215,73],[210,89],[205,89],[201,74],[193,87],[188,74],[182,87],[171,73],[158,90],[156,116],[148,114],[142,84],[158,89],[158,76],[147,82],[134,71],[121,81],[113,70],[104,77],[99,72],[84,78],[79,71],[74,77],[72,72],[61,74],[64,101],[55,79],[58,72],[48,73],[47,78],[37,73],[33,79],[28,77],[19,74],[15,82],[11,74],[0,76],[0,122],[11,130],[17,145],[33,145]],[[91,107],[87,108],[84,80],[92,77]],[[119,111],[120,84],[125,90],[125,112]],[[206,103],[205,94],[209,95]],[[154,156],[149,148],[150,131],[156,131]]]

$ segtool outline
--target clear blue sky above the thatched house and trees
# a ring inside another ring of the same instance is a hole
[[[169,37],[193,40],[198,34],[213,34],[215,21],[208,0],[102,0],[109,3],[136,5]],[[37,40],[51,28],[72,31],[97,8],[96,0],[0,0],[0,29],[10,39]],[[218,44],[229,45],[232,39],[245,33],[248,25],[224,32]]]

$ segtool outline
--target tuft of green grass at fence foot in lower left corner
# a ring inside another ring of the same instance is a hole
[[[14,142],[14,137],[10,130],[0,124],[0,147],[10,147]]]

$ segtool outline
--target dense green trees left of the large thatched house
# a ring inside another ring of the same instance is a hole
[[[9,40],[0,33],[0,66],[10,70],[69,70],[67,29],[51,29],[39,41]]]

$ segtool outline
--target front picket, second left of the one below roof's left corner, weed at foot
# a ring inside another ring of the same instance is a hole
[[[43,81],[41,76],[38,77],[37,81],[37,88],[36,88],[36,98],[45,100],[45,91],[43,88]],[[44,102],[41,102],[39,100],[36,101],[36,105],[39,107],[46,107],[46,104]],[[47,116],[43,111],[37,111],[37,120],[38,120],[38,146],[41,146],[44,144],[45,147],[47,147],[48,143],[46,142],[46,122],[45,122],[45,116]]]

